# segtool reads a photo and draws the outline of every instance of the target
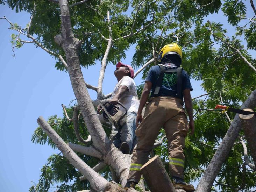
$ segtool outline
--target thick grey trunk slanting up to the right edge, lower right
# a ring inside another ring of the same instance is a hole
[[[256,90],[254,90],[247,100],[243,103],[241,109],[255,108],[256,107]],[[209,163],[205,173],[200,180],[196,192],[207,192],[211,190],[212,184],[220,172],[221,166],[227,158],[230,149],[232,148],[239,131],[242,128],[242,123],[239,115],[236,114],[233,122],[231,123],[225,137],[223,138],[219,148],[216,150],[211,162]]]

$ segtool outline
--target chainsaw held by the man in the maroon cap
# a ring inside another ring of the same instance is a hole
[[[104,119],[108,120],[113,126],[115,126],[115,128],[121,129],[123,124],[126,123],[127,119],[127,109],[125,106],[118,102],[118,105],[125,109],[125,113],[123,113],[119,107],[113,105],[111,102],[105,102],[104,105],[102,105],[100,101],[99,103]]]

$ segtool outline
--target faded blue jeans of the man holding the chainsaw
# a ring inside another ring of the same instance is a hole
[[[122,126],[121,129],[118,130],[117,128],[112,126],[112,131],[109,139],[113,139],[114,137],[113,144],[118,149],[120,148],[122,142],[126,142],[129,145],[130,151],[132,151],[134,146],[137,144],[137,137],[134,133],[136,130],[137,113],[128,112],[126,116],[126,123]]]

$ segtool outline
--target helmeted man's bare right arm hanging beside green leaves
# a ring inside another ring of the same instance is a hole
[[[183,90],[184,103],[186,107],[187,114],[189,115],[189,128],[191,129],[191,135],[194,134],[194,119],[193,119],[193,103],[190,95],[190,89]]]

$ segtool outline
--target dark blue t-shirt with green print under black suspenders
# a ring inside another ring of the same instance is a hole
[[[166,67],[167,69],[167,67]],[[149,71],[148,75],[146,77],[145,81],[150,81],[152,83],[152,91],[151,91],[151,97],[154,96],[155,88],[156,88],[156,81],[160,74],[160,67],[158,65],[152,66]],[[182,90],[184,89],[190,89],[190,91],[193,90],[189,75],[185,70],[182,70]],[[163,77],[163,83],[162,87],[160,88],[160,91],[158,95],[162,96],[176,96],[177,91],[177,73],[164,73]]]

